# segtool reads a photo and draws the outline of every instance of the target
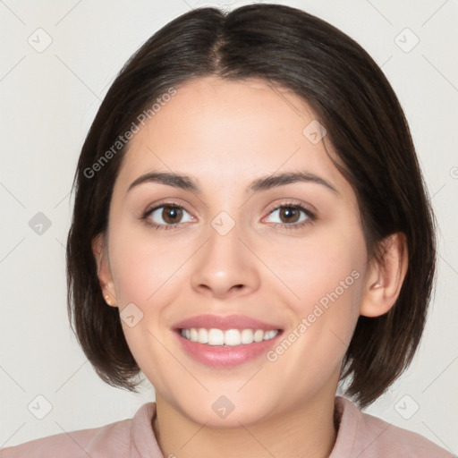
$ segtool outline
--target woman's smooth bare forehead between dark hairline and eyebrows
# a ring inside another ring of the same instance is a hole
[[[316,115],[289,89],[208,77],[167,100],[131,139],[118,188],[153,170],[194,176],[204,190],[299,170],[343,180],[317,141]]]

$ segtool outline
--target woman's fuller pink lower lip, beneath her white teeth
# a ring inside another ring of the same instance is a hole
[[[199,342],[192,342],[186,339],[179,331],[176,332],[176,335],[184,351],[194,360],[211,367],[230,368],[250,360],[256,360],[260,355],[266,354],[268,350],[276,345],[282,332],[280,331],[269,340],[236,346],[199,344]]]

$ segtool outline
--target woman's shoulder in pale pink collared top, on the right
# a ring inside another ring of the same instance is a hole
[[[335,445],[336,447],[341,446],[346,456],[359,456],[360,458],[454,457],[453,454],[420,434],[396,427],[392,423],[360,411],[355,404],[344,397],[336,396],[335,405],[340,416],[340,427],[337,434],[339,443],[336,442]],[[332,458],[337,458],[337,456],[340,454],[331,454]]]

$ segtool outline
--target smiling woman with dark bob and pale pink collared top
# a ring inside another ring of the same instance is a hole
[[[282,5],[183,14],[114,81],[74,185],[74,330],[157,400],[1,457],[452,456],[354,404],[410,363],[436,246],[403,110],[351,38]]]

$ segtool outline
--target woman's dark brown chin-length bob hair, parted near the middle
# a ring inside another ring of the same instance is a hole
[[[123,66],[89,129],[72,184],[66,248],[72,330],[99,377],[138,392],[140,368],[119,310],[104,301],[91,250],[93,238],[108,230],[129,142],[119,150],[113,145],[171,88],[211,75],[260,79],[309,104],[358,199],[369,260],[383,261],[388,235],[405,234],[409,267],[399,297],[386,314],[359,317],[343,361],[345,394],[365,407],[409,366],[420,344],[435,273],[435,219],[403,109],[383,72],[352,38],[293,7],[192,10],[158,30]]]

